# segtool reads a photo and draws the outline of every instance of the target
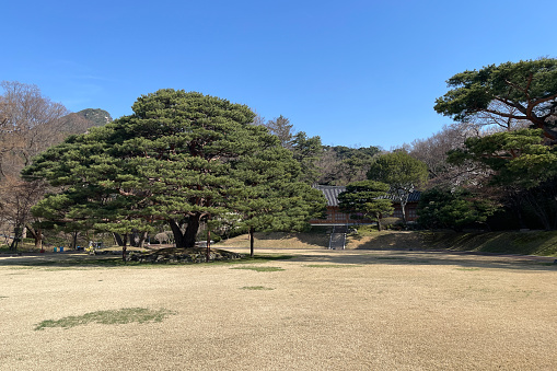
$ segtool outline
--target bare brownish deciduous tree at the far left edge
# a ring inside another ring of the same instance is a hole
[[[68,135],[67,124],[61,120],[68,111],[62,104],[43,96],[35,85],[3,81],[0,86],[3,89],[0,95],[0,223],[13,227],[11,247],[15,248],[25,224],[32,221],[31,207],[46,189],[43,183],[24,182],[20,172],[31,164],[33,156]],[[27,230],[40,247],[40,230],[31,223]]]

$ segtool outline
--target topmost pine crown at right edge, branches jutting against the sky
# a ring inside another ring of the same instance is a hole
[[[491,65],[457,73],[446,83],[452,89],[437,98],[438,113],[463,123],[525,120],[557,142],[557,59]]]

